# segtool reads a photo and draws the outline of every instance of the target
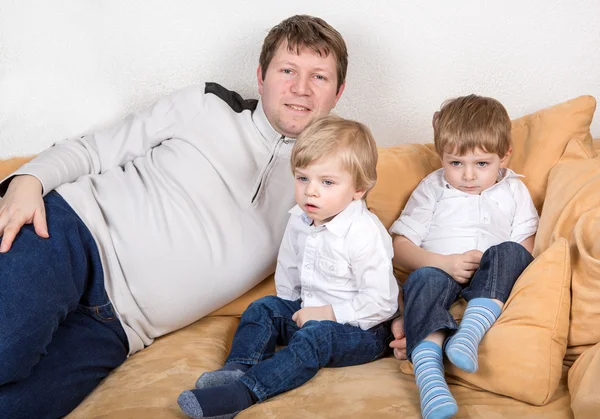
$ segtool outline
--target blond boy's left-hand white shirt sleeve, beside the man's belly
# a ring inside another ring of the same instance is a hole
[[[294,251],[294,243],[297,236],[294,229],[296,216],[292,215],[283,233],[279,255],[277,256],[277,267],[275,268],[275,290],[277,296],[284,300],[295,301],[300,298],[301,283],[300,271],[298,270],[298,255]]]

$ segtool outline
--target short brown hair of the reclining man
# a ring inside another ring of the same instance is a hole
[[[346,81],[348,71],[348,50],[344,38],[338,31],[323,19],[309,16],[296,15],[283,20],[267,34],[260,52],[259,64],[264,80],[267,68],[275,56],[277,49],[283,42],[291,53],[300,54],[300,48],[306,47],[319,57],[333,54],[337,70],[337,92]]]

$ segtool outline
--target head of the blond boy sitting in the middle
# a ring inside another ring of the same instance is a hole
[[[360,122],[336,116],[304,130],[290,160],[296,203],[315,225],[362,199],[377,181],[377,145],[371,132]]]

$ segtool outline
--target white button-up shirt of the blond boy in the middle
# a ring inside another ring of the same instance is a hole
[[[364,200],[315,227],[290,211],[275,271],[277,296],[302,307],[331,304],[338,323],[370,329],[398,308],[390,235]]]

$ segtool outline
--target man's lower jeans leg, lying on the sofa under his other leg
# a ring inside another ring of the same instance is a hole
[[[125,361],[127,353],[127,336],[111,305],[79,307],[58,326],[31,374],[0,386],[0,416],[64,417]]]

